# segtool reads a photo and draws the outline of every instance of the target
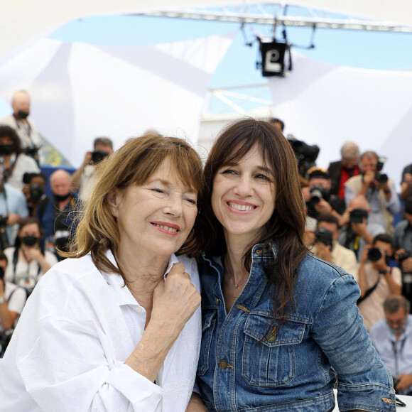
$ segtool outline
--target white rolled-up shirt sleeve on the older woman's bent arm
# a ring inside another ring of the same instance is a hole
[[[28,339],[18,340],[16,364],[42,411],[155,411],[161,403],[161,387],[107,359],[94,329],[51,317],[31,324],[19,325]]]

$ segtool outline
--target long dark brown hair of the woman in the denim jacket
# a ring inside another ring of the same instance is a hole
[[[298,163],[291,144],[280,129],[269,121],[251,118],[229,124],[215,141],[205,164],[205,219],[207,219],[207,244],[218,253],[225,253],[222,224],[212,210],[213,181],[222,166],[236,163],[251,151],[255,145],[261,148],[264,166],[273,170],[275,182],[275,210],[266,223],[259,239],[254,239],[243,256],[244,267],[251,267],[251,249],[254,244],[263,243],[269,248],[273,243],[278,248],[278,257],[266,266],[269,285],[274,285],[273,322],[283,322],[286,311],[294,306],[294,282],[298,265],[308,253],[304,244],[305,207],[298,178]]]

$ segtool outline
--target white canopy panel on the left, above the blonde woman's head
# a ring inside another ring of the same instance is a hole
[[[97,136],[148,129],[196,141],[210,77],[232,34],[151,47],[39,40],[0,66],[0,97],[26,89],[38,129],[78,166]]]

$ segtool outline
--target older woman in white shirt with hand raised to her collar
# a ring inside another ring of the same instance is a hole
[[[99,165],[75,252],[40,279],[0,364],[0,410],[185,411],[200,346],[199,156],[132,139]]]

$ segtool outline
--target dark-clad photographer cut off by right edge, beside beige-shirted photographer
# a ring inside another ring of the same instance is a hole
[[[412,197],[405,202],[405,217],[396,224],[394,247],[396,259],[402,269],[402,295],[412,299]]]

